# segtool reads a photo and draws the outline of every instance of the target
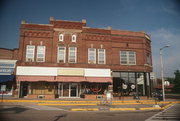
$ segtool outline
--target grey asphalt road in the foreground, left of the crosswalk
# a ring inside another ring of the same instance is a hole
[[[63,110],[38,110],[22,105],[0,107],[1,121],[144,121],[158,111],[130,112],[68,112]]]

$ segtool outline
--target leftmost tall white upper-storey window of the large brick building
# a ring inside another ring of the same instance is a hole
[[[27,62],[33,62],[34,61],[34,45],[27,45],[26,46],[26,61]]]

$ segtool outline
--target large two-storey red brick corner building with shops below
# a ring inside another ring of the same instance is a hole
[[[90,28],[86,20],[22,21],[16,93],[27,98],[150,95],[151,41],[144,32]],[[124,87],[124,89],[122,89]]]

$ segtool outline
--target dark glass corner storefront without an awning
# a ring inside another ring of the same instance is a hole
[[[113,96],[150,96],[148,72],[113,72]]]

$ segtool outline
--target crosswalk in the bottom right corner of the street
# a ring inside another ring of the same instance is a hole
[[[180,104],[174,104],[145,121],[180,121]]]

